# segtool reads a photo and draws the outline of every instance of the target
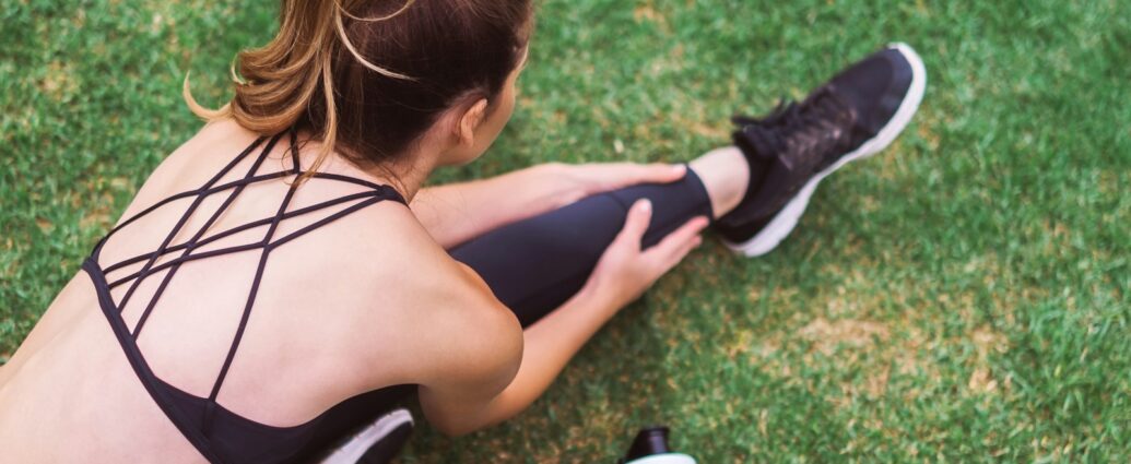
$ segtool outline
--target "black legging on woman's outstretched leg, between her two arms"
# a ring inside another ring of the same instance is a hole
[[[707,190],[693,172],[671,184],[641,184],[585,198],[564,208],[513,222],[451,249],[474,269],[524,327],[577,294],[613,242],[629,207],[648,199],[651,222],[642,246],[698,216],[711,217]]]

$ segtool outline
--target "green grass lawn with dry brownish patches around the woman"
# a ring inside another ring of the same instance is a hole
[[[221,102],[275,17],[71,3],[0,5],[0,361],[198,128],[184,73]],[[511,126],[439,178],[689,159],[892,40],[922,110],[779,249],[703,247],[528,411],[403,462],[611,462],[656,422],[703,463],[1131,459],[1124,2],[544,1]]]

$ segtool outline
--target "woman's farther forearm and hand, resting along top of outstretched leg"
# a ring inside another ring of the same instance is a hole
[[[683,165],[545,164],[481,181],[421,190],[409,208],[432,238],[452,248],[510,222],[595,193],[683,177]]]

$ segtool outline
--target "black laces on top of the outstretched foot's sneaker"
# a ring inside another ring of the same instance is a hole
[[[848,142],[855,113],[824,87],[800,104],[783,98],[762,117],[737,115],[731,120],[757,156],[776,157],[791,170],[803,165],[820,169],[832,163],[829,155],[838,152],[836,148]]]

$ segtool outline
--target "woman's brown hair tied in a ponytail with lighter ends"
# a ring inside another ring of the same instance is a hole
[[[447,108],[494,97],[518,65],[530,0],[282,0],[278,34],[236,55],[235,96],[197,115],[297,128],[366,168],[406,151]]]

